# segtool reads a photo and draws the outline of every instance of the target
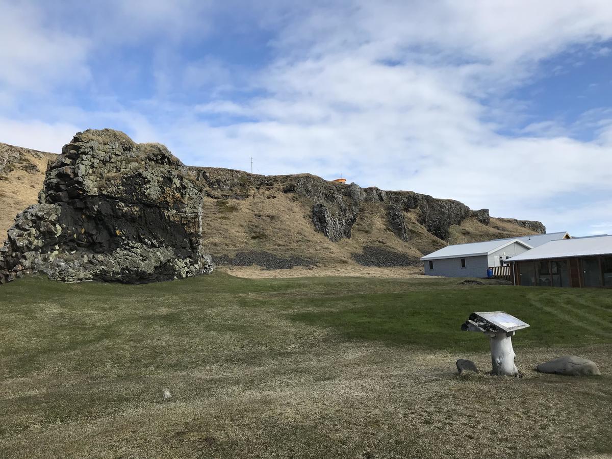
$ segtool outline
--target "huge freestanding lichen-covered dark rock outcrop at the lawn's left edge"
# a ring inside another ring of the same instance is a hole
[[[76,133],[0,249],[0,282],[24,272],[125,283],[213,269],[201,247],[202,193],[166,147],[114,130]]]

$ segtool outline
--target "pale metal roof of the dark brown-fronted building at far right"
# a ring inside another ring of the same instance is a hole
[[[612,236],[560,239],[532,248],[506,261],[527,261],[572,256],[612,255]]]

